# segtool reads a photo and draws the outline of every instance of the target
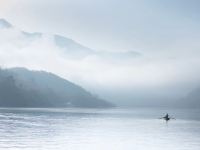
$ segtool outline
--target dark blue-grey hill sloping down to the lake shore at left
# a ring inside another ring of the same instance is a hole
[[[112,107],[52,73],[25,68],[0,70],[0,107]]]

